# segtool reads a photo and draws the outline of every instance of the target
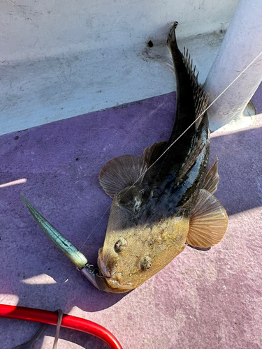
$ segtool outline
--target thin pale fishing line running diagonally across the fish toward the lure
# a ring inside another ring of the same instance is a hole
[[[219,95],[217,96],[217,98],[214,98],[214,101],[212,101],[212,103],[210,103],[210,105],[208,105],[208,107],[206,107],[206,109],[205,109],[200,115],[198,115],[198,117],[196,118],[196,120],[195,120],[194,122],[192,122],[192,124],[189,125],[189,127],[186,128],[186,129],[184,130],[184,132],[183,132],[179,137],[177,137],[177,139],[174,140],[174,142],[173,142],[172,144],[170,144],[170,146],[163,152],[163,154],[161,154],[161,155],[159,156],[159,158],[157,158],[157,160],[154,161],[154,163],[152,163],[152,165],[150,165],[150,167],[147,168],[147,170],[145,170],[145,172],[143,172],[143,174],[141,174],[140,177],[138,177],[138,179],[136,179],[136,181],[133,183],[133,186],[145,175],[145,173],[146,173],[148,170],[150,170],[150,168],[152,168],[152,166],[154,166],[155,163],[157,163],[157,161],[159,161],[159,159],[160,159],[164,154],[166,154],[166,151],[168,151],[171,147],[173,147],[173,144],[175,144],[175,142],[177,142],[177,140],[179,140],[179,139],[182,137],[182,135],[184,135],[184,133],[186,133],[186,132],[189,130],[189,128],[191,128],[191,126],[193,126],[193,125],[196,123],[196,121],[198,121],[198,119],[199,119],[200,117],[203,116],[203,114],[205,114],[205,112],[206,112],[206,111],[207,111],[207,110],[208,110],[208,109],[209,109],[209,108],[210,108],[210,107],[211,107],[211,106],[212,106],[212,105],[213,105],[213,104],[214,104],[214,103],[215,103],[215,102],[229,89],[229,87],[231,87],[231,85],[232,85],[236,80],[238,80],[238,78],[239,78],[243,73],[245,73],[245,71],[246,71],[250,66],[252,66],[252,64],[254,64],[254,62],[256,61],[256,59],[258,59],[258,58],[261,56],[261,54],[262,54],[262,51],[256,56],[255,59],[253,59],[253,61],[252,61],[251,63],[249,63],[248,66],[246,66],[246,68],[245,68],[244,70],[242,70],[242,72],[241,72],[237,77],[235,77],[235,79],[228,85],[228,87],[226,87],[226,89],[224,89],[224,90],[221,92],[221,94],[219,94]],[[124,193],[124,195],[126,195],[126,193],[128,193],[129,190],[130,190],[130,188]],[[123,196],[124,196],[124,195],[123,195]],[[81,246],[81,248],[80,248],[79,251],[81,251],[82,248],[83,248],[83,246],[85,246],[87,240],[89,239],[89,237],[91,237],[91,235],[93,234],[94,230],[96,230],[96,228],[98,227],[99,223],[102,221],[103,217],[104,217],[105,214],[108,212],[108,209],[110,209],[110,207],[111,207],[111,205],[105,210],[105,213],[104,213],[103,216],[100,218],[99,222],[96,224],[96,226],[94,227],[94,229],[92,230],[92,232],[90,232],[90,234],[88,235],[87,239],[85,239],[85,242],[82,244],[82,246]]]

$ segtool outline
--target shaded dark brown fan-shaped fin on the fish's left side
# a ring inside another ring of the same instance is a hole
[[[138,178],[140,179],[137,183],[140,184],[146,170],[147,164],[142,158],[133,155],[119,156],[103,166],[99,173],[99,182],[105,193],[114,198],[115,193],[127,186],[133,186]]]

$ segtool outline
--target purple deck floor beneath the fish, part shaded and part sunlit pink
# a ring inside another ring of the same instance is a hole
[[[257,113],[261,96],[260,88],[253,98]],[[20,198],[24,193],[96,263],[109,211],[103,214],[112,202],[99,171],[115,156],[141,156],[148,145],[167,140],[174,104],[175,94],[167,94],[0,137],[0,184],[27,179],[0,188],[0,303],[93,320],[124,349],[262,348],[261,119],[211,141],[210,163],[219,158],[216,196],[229,216],[223,241],[208,252],[186,248],[128,294],[96,290],[45,237]],[[37,327],[0,319],[0,348],[26,341]],[[35,348],[52,348],[54,327],[45,333]],[[108,348],[68,329],[60,338],[59,348]]]

